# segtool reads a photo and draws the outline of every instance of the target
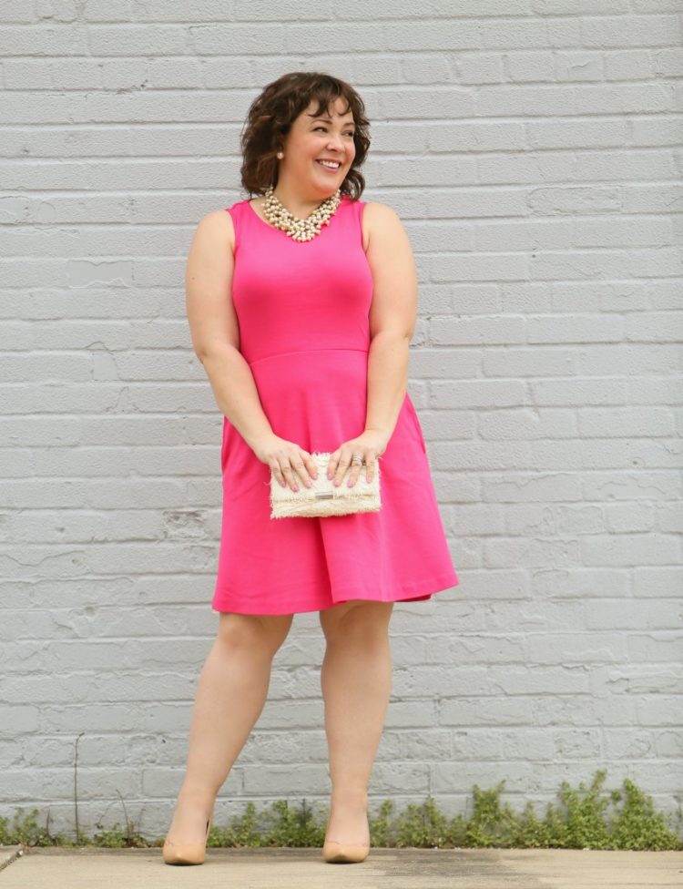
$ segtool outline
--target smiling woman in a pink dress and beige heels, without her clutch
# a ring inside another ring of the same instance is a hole
[[[459,581],[424,439],[406,393],[417,282],[394,211],[358,198],[370,145],[361,98],[324,74],[266,87],[242,134],[243,187],[259,195],[200,221],[189,251],[192,343],[224,414],[223,520],[187,771],[164,845],[202,863],[216,795],[265,703],[293,615],[318,610],[330,753],[330,862],[369,852],[368,782],[391,686],[395,601]],[[292,219],[293,217],[293,219]],[[298,220],[306,220],[306,224]],[[369,479],[379,512],[270,518],[271,473],[311,485]]]

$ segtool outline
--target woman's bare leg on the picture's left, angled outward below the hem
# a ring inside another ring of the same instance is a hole
[[[220,614],[216,641],[199,676],[170,843],[204,842],[216,795],[263,710],[272,659],[292,618]]]

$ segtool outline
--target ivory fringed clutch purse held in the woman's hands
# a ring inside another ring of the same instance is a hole
[[[275,475],[270,472],[270,518],[290,518],[295,516],[346,516],[349,513],[376,513],[382,508],[380,497],[380,461],[375,462],[372,481],[365,478],[366,466],[361,466],[361,475],[355,485],[347,482],[352,466],[344,473],[341,485],[333,485],[327,477],[327,465],[331,452],[311,454],[318,468],[318,477],[312,478],[311,487],[301,485],[292,491],[288,485],[282,487]]]

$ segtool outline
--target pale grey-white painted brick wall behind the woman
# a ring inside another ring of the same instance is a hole
[[[368,19],[369,10],[372,19]],[[461,586],[400,605],[372,802],[675,811],[683,416],[677,0],[5,0],[0,814],[164,833],[217,626],[221,416],[184,267],[250,101],[328,70],[420,275],[409,390]],[[219,822],[326,805],[315,613]]]

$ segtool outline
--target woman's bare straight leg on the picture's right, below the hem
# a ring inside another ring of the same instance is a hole
[[[327,640],[321,687],[330,751],[326,839],[368,843],[368,783],[392,685],[393,602],[354,600],[320,612]]]

